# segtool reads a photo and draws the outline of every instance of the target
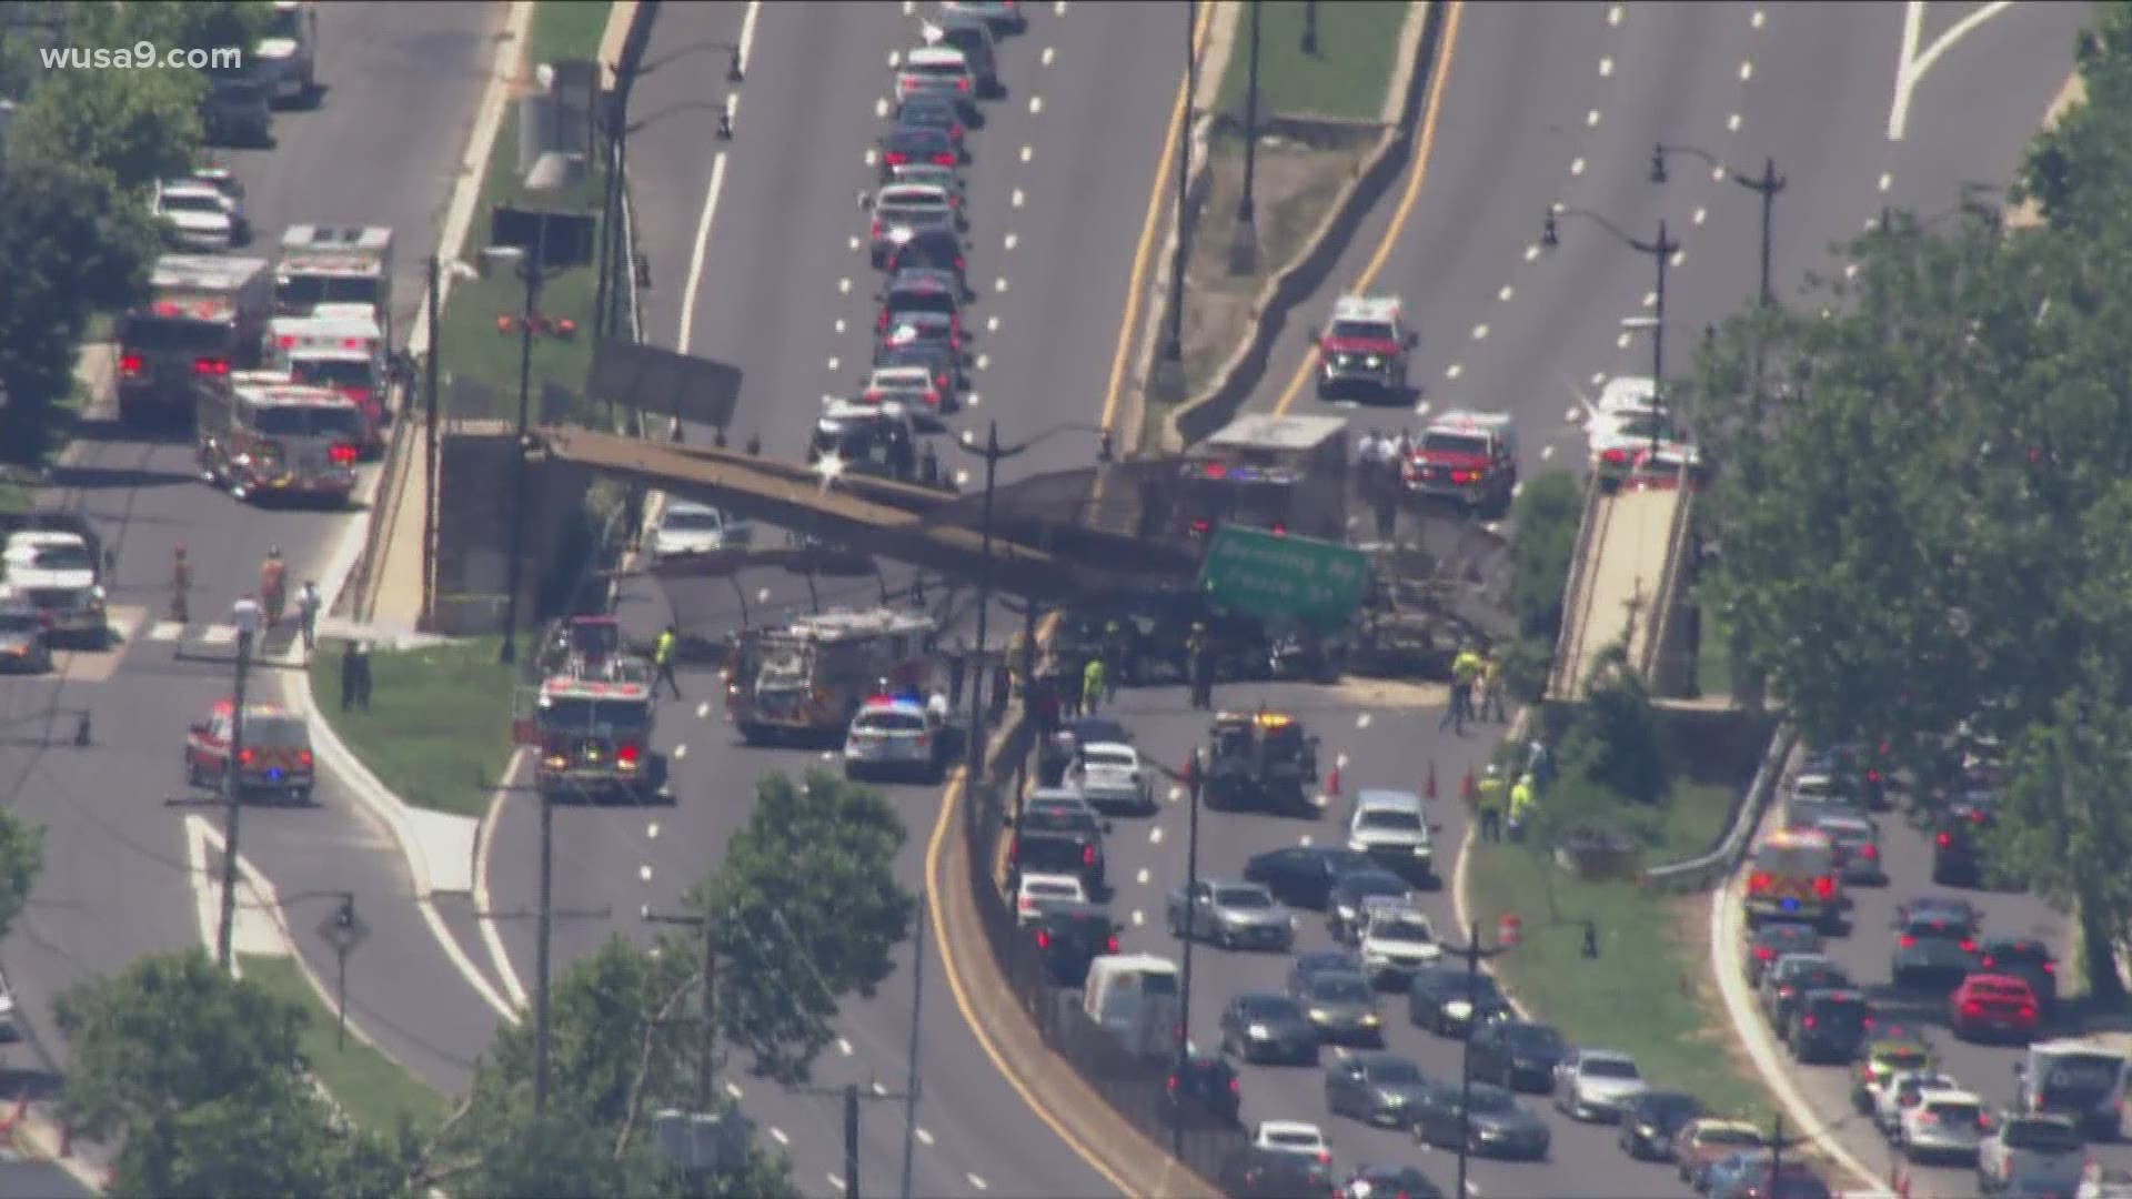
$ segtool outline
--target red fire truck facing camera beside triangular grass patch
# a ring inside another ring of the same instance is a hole
[[[548,800],[650,802],[665,789],[665,757],[652,753],[652,689],[644,670],[556,674],[539,685],[514,740],[535,753]]]

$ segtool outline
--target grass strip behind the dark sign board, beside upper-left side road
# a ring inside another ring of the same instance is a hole
[[[599,36],[608,23],[612,4],[548,0],[533,9],[533,28],[527,38],[527,68],[542,62],[569,58],[597,58]],[[497,205],[527,205],[548,211],[588,213],[599,209],[601,179],[599,162],[584,183],[559,192],[529,194],[518,186],[518,107],[503,109],[503,124],[497,130],[495,154],[482,175],[482,198],[475,207],[475,237],[486,245],[488,213]],[[469,258],[471,265],[471,258]],[[599,284],[593,267],[571,267],[546,277],[539,292],[542,316],[571,318],[578,335],[571,339],[533,337],[531,393],[533,420],[539,422],[542,384],[552,380],[571,393],[584,390],[584,373],[593,363],[593,299]],[[518,333],[497,329],[499,316],[516,316],[524,309],[524,284],[518,277],[456,279],[452,299],[443,307],[443,371],[454,380],[482,384],[486,397],[446,390],[452,416],[510,416],[518,414]],[[563,418],[561,414],[554,414]]]

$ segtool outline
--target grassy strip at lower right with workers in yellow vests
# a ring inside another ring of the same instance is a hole
[[[1725,740],[1740,749],[1755,736]],[[1646,864],[1708,851],[1753,779],[1757,755],[1708,753],[1676,764],[1680,774],[1663,806],[1620,826],[1642,843]],[[1475,843],[1471,853],[1469,915],[1490,941],[1499,917],[1520,917],[1522,939],[1495,969],[1537,1020],[1571,1043],[1635,1054],[1654,1086],[1689,1090],[1712,1112],[1767,1124],[1770,1092],[1738,1050],[1710,979],[1708,892],[1676,896],[1640,879],[1584,881],[1537,843]],[[1597,930],[1597,958],[1584,956],[1586,920]]]

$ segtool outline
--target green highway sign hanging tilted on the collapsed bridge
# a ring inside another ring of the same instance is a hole
[[[1200,563],[1200,591],[1224,608],[1332,632],[1369,589],[1369,557],[1352,546],[1224,525]]]

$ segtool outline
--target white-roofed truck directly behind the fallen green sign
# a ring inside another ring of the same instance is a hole
[[[1254,412],[1224,425],[1179,465],[1175,533],[1209,540],[1247,525],[1347,538],[1347,420]]]

